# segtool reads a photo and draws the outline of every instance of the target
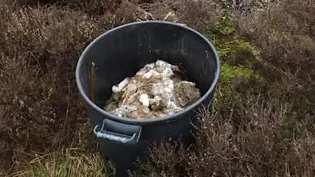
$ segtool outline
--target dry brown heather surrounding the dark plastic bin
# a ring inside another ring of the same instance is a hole
[[[77,59],[102,32],[156,19],[187,24],[223,43],[250,42],[260,62],[241,49],[223,60],[250,66],[263,82],[239,77],[221,84],[214,114],[199,116],[195,145],[153,146],[138,176],[315,175],[314,1],[234,11],[233,33],[218,30],[227,13],[205,0],[18,2],[0,0],[1,169],[25,167],[32,151],[95,150],[74,81]]]

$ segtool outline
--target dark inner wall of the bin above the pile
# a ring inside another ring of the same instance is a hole
[[[157,59],[183,64],[188,78],[202,95],[214,82],[218,64],[209,43],[198,34],[172,24],[132,24],[103,34],[83,55],[79,73],[86,95],[90,95],[89,70],[94,62],[95,104],[103,108],[111,96],[111,87],[133,76],[145,64]],[[90,98],[91,99],[91,98]]]

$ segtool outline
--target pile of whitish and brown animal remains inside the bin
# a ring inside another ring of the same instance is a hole
[[[171,115],[197,99],[195,83],[183,80],[179,66],[162,60],[146,64],[132,78],[112,87],[105,111],[123,118],[144,119]]]

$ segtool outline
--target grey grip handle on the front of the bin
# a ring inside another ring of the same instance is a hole
[[[130,144],[136,144],[139,142],[140,136],[141,136],[141,132],[142,132],[142,127],[140,127],[140,130],[138,133],[134,133],[132,135],[131,138],[126,138],[123,136],[118,136],[116,133],[114,132],[109,132],[104,130],[104,125],[106,124],[106,119],[103,120],[103,125],[101,127],[101,129],[99,130],[99,132],[97,132],[97,128],[100,127],[99,125],[96,125],[94,127],[94,134],[97,136],[97,138],[102,138],[102,139],[109,139],[111,141],[118,141],[120,143],[130,143]]]

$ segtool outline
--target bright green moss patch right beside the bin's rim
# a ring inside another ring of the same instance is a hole
[[[252,63],[260,59],[260,53],[251,43],[236,38],[235,24],[228,14],[223,15],[213,31],[204,31],[203,34],[214,44],[221,59],[221,78],[216,90],[216,105],[228,103],[228,99],[235,88],[235,78],[244,80],[262,81],[262,76],[254,73]]]

